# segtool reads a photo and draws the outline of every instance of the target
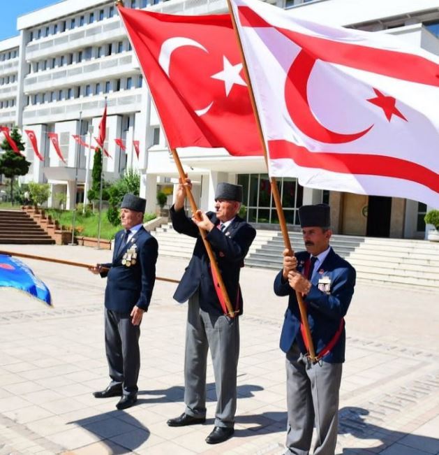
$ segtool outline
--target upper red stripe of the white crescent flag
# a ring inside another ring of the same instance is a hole
[[[290,29],[274,27],[248,6],[239,6],[239,20],[243,27],[273,27],[315,59],[323,62],[439,87],[439,64],[419,55],[340,43],[327,38],[297,33]]]

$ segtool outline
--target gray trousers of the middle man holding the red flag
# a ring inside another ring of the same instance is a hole
[[[188,302],[184,356],[186,414],[206,416],[207,351],[210,348],[216,385],[215,426],[233,427],[237,408],[239,319],[200,309],[196,292]]]

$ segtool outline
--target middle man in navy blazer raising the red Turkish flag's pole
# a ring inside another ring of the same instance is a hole
[[[186,184],[191,187],[191,181]],[[188,300],[186,350],[184,359],[183,414],[168,420],[169,426],[202,424],[206,420],[206,368],[210,349],[216,384],[214,430],[207,436],[208,444],[218,444],[234,433],[237,407],[237,365],[239,357],[239,318],[242,296],[239,272],[244,267],[256,231],[237,214],[242,201],[241,185],[219,183],[215,192],[215,212],[199,212],[192,219],[184,213],[184,185],[179,185],[170,213],[172,226],[179,233],[197,238],[193,256],[174,298],[179,303]],[[198,228],[207,232],[209,241],[235,317],[225,315],[226,308],[218,296],[212,279],[211,264]]]

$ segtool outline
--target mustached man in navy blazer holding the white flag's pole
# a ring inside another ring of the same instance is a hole
[[[354,294],[355,269],[329,246],[329,205],[304,205],[299,208],[299,219],[306,251],[291,257],[285,250],[283,270],[274,281],[276,295],[288,296],[281,333],[287,370],[285,454],[308,454],[315,425],[313,453],[334,455],[345,360],[343,317]],[[307,356],[296,292],[304,298],[317,362]]]

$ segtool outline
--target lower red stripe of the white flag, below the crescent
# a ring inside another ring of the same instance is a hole
[[[439,193],[439,174],[406,159],[361,153],[310,152],[288,140],[269,140],[270,159],[292,159],[298,166],[354,175],[378,175],[419,183]]]

